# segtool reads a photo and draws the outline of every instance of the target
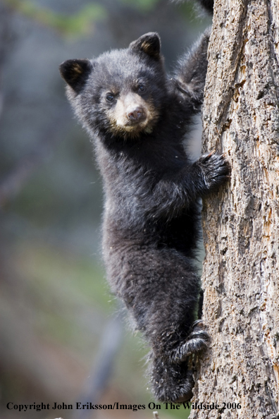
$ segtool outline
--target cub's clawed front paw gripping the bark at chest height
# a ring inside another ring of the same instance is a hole
[[[230,165],[223,154],[204,154],[199,157],[197,164],[202,171],[206,193],[218,189],[230,178]]]

